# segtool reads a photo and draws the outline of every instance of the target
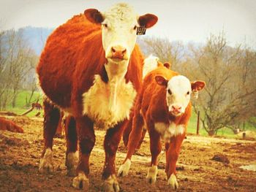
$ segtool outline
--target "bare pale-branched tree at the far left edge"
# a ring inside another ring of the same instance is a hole
[[[22,30],[1,32],[0,55],[0,109],[5,109],[8,102],[15,107],[19,90],[34,70],[38,57],[23,38]]]

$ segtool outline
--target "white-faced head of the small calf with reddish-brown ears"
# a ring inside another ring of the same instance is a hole
[[[174,116],[179,116],[185,112],[192,91],[200,91],[206,85],[206,82],[203,81],[190,82],[183,75],[174,76],[170,80],[157,75],[155,80],[157,84],[165,86],[167,107]]]

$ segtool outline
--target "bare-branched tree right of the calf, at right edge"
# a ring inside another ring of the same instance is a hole
[[[196,111],[203,111],[201,120],[208,134],[255,116],[256,53],[228,47],[224,33],[211,35],[206,46],[190,50],[192,58],[182,66],[191,80],[206,81],[205,91],[193,103]]]

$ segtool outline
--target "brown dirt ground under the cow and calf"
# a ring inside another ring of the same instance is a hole
[[[54,173],[39,174],[42,152],[42,118],[10,117],[24,134],[0,131],[0,191],[78,191],[64,166],[65,139],[55,139]],[[104,164],[102,147],[105,131],[96,131],[97,143],[91,153],[90,191],[102,191]],[[121,191],[170,191],[165,178],[165,155],[159,158],[157,183],[146,183],[150,164],[148,136],[132,158],[127,177],[118,178]],[[116,171],[126,150],[120,143]],[[230,164],[213,161],[216,154],[226,155]],[[239,166],[256,164],[256,142],[188,136],[178,158],[178,191],[256,191],[256,172]]]

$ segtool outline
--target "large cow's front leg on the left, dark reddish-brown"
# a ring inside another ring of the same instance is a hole
[[[79,161],[77,177],[73,179],[73,187],[89,190],[89,157],[95,143],[94,124],[88,117],[76,118],[78,132]]]

